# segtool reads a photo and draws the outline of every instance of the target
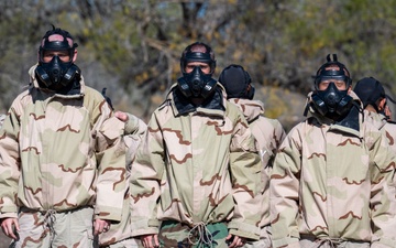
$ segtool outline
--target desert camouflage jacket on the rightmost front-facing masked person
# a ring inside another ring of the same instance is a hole
[[[363,122],[358,107],[339,122],[312,108],[310,112],[290,130],[275,159],[274,246],[299,247],[300,236],[308,235],[395,247],[395,223],[389,220],[396,211],[396,160],[384,136]],[[359,126],[352,125],[355,121]]]

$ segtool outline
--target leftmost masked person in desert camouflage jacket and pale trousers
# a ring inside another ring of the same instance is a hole
[[[77,44],[50,30],[0,131],[0,220],[12,247],[92,247],[120,222],[122,131],[103,96],[85,85]]]

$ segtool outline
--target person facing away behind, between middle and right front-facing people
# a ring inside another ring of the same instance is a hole
[[[241,66],[231,64],[220,74],[219,83],[224,87],[227,99],[235,104],[249,122],[249,127],[257,142],[257,151],[262,161],[262,198],[257,205],[262,209],[260,223],[260,240],[246,242],[244,248],[271,248],[270,227],[270,175],[275,154],[285,139],[285,130],[276,119],[264,117],[264,104],[253,100],[254,87],[249,73]]]

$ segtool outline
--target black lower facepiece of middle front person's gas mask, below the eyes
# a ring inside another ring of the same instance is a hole
[[[217,80],[211,77],[211,74],[205,74],[199,66],[196,66],[193,72],[183,73],[177,84],[186,97],[207,98],[215,90]]]

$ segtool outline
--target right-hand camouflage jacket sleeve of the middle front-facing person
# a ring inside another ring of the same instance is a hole
[[[255,140],[242,115],[238,118],[230,147],[230,171],[235,202],[229,224],[230,234],[258,239],[261,211],[255,200],[261,196],[261,160]]]

